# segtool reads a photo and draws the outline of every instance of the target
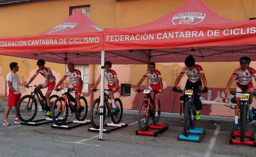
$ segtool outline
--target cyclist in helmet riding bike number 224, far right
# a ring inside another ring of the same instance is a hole
[[[249,67],[251,59],[249,57],[241,57],[240,58],[240,67],[235,69],[233,74],[230,77],[230,80],[226,86],[225,93],[229,93],[229,88],[235,78],[238,78],[236,90],[237,92],[253,92],[253,84],[252,79],[254,78],[256,81],[256,70]],[[236,106],[235,106],[235,124],[234,130],[238,130],[238,112],[239,112],[239,102],[241,98],[241,93],[236,93]],[[252,97],[249,97],[249,122],[253,122],[253,112],[252,112]]]

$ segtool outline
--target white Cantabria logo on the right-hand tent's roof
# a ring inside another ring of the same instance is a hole
[[[198,24],[206,17],[205,13],[186,12],[178,13],[172,18],[173,24]]]

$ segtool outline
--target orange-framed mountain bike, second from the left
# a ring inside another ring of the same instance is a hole
[[[53,119],[54,124],[57,126],[62,126],[63,124],[66,123],[66,119],[68,118],[69,115],[69,109],[71,111],[72,115],[78,115],[79,111],[77,108],[77,104],[75,101],[75,98],[69,93],[71,91],[75,91],[74,88],[63,88],[60,89],[58,88],[57,91],[62,90],[62,96],[58,97],[55,102],[53,103],[53,108],[52,108],[52,114],[53,117],[59,117],[58,119]],[[80,116],[76,116],[76,119],[78,121],[83,121],[85,120],[87,116],[87,111],[88,111],[88,104],[85,99],[85,97],[80,96],[80,104],[81,104],[81,114]]]

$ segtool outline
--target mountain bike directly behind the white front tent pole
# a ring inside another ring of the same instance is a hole
[[[99,89],[92,89],[91,91],[97,92],[100,91]],[[104,89],[104,91],[112,91],[111,89]],[[103,108],[103,123],[105,122],[105,118],[106,118],[106,107],[107,107],[107,117],[111,117],[111,120],[114,124],[119,124],[121,122],[122,116],[123,116],[123,104],[121,102],[121,100],[119,98],[115,98],[115,104],[117,106],[117,112],[115,113],[110,113],[111,109],[112,109],[112,104],[111,102],[109,102],[109,100],[111,100],[110,96],[107,95],[104,92],[104,108]],[[100,102],[101,102],[101,96],[99,95],[99,97],[97,99],[94,100],[94,102],[91,105],[91,125],[96,128],[99,129],[100,128]]]

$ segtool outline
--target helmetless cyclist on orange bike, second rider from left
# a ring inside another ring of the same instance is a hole
[[[69,69],[69,71],[62,77],[61,80],[59,80],[59,82],[54,87],[54,90],[57,90],[57,88],[62,84],[62,82],[67,77],[71,78],[72,84],[69,85],[68,88],[75,89],[75,102],[76,102],[77,108],[78,108],[78,114],[75,115],[75,118],[79,118],[81,115],[80,95],[82,93],[82,87],[83,87],[83,82],[81,79],[81,71],[78,69],[75,69],[75,65],[72,62],[69,62],[68,69]]]

